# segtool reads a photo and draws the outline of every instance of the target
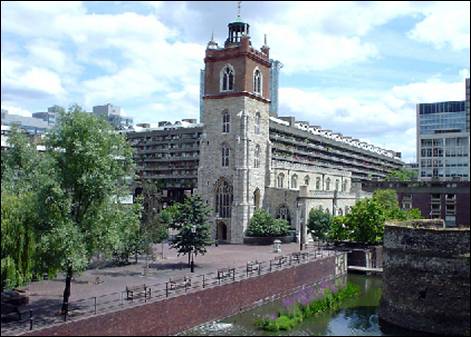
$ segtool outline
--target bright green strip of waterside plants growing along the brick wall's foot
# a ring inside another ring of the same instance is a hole
[[[352,297],[358,296],[360,289],[351,283],[344,288],[333,293],[330,289],[324,290],[324,296],[321,299],[314,300],[308,304],[297,303],[289,312],[278,312],[275,319],[260,319],[256,325],[265,331],[291,330],[300,324],[306,318],[315,316],[318,313],[326,311],[336,311],[340,309],[341,304]]]

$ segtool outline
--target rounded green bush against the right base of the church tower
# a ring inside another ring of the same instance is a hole
[[[275,219],[264,209],[258,209],[250,219],[245,235],[255,237],[285,236],[290,226],[284,219]]]

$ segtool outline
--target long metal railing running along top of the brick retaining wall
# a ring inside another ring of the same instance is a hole
[[[296,265],[305,264],[325,257],[335,256],[337,252],[310,247],[308,251],[278,255],[269,261],[249,261],[245,265],[220,268],[205,274],[188,273],[168,281],[143,285],[142,292],[127,296],[126,290],[70,301],[68,310],[61,312],[62,302],[49,305],[34,303],[19,312],[2,314],[2,335],[15,335],[30,330],[42,329],[65,321],[87,316],[123,310],[144,303],[157,302],[185,295],[203,289],[223,286],[244,279],[260,277]]]

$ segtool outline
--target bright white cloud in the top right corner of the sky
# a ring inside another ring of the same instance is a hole
[[[435,2],[424,8],[423,14],[425,19],[409,32],[410,38],[436,48],[469,49],[469,1]]]

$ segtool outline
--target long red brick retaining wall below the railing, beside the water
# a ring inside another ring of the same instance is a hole
[[[325,257],[259,277],[70,321],[25,335],[173,335],[208,321],[234,315],[258,301],[286,293],[290,289],[334,278],[336,272],[339,272],[338,269],[336,271],[336,257]]]

